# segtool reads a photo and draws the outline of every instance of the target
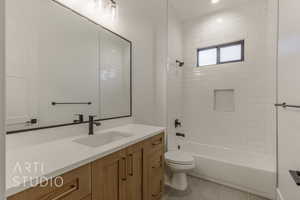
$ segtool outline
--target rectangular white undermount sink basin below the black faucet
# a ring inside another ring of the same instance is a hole
[[[132,135],[121,133],[121,132],[106,132],[103,134],[91,135],[85,138],[79,138],[74,140],[73,142],[89,146],[89,147],[100,147],[118,140],[122,140],[124,138],[128,138]]]

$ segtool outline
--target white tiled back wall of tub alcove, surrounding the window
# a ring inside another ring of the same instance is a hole
[[[272,9],[268,1],[255,0],[183,23],[187,140],[275,155],[276,18]],[[196,68],[197,48],[241,39],[245,39],[245,62]],[[234,112],[214,111],[215,89],[234,89]]]

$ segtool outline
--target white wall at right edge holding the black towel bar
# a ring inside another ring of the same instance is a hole
[[[300,2],[279,0],[278,103],[299,105]],[[289,170],[300,171],[299,109],[278,107],[278,193],[280,200],[299,200],[300,188]]]

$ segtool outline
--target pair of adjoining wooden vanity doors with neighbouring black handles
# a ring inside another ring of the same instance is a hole
[[[143,145],[92,163],[93,200],[142,200]]]

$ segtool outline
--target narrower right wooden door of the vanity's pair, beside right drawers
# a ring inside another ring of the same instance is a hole
[[[143,199],[143,147],[136,144],[127,149],[126,200]]]

